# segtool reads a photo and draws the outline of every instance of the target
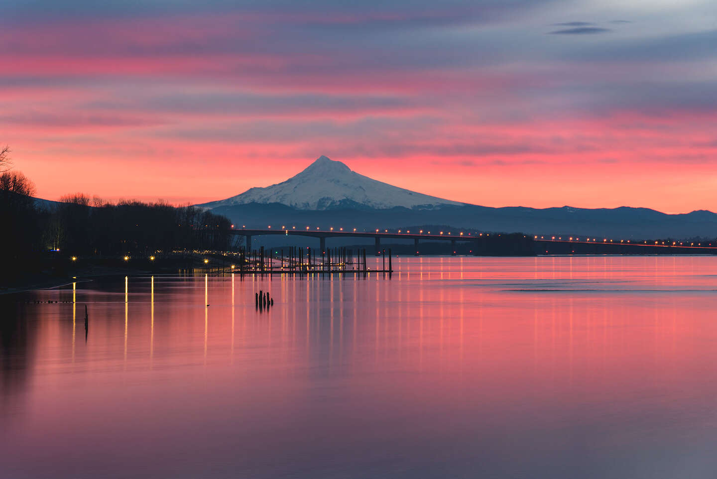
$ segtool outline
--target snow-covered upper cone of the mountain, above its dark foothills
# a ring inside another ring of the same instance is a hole
[[[436,209],[444,205],[463,205],[376,181],[326,156],[320,156],[304,171],[281,183],[250,188],[237,196],[200,206],[216,208],[247,203],[280,203],[311,210],[341,207]]]

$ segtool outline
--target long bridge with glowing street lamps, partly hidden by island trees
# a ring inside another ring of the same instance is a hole
[[[471,243],[475,245],[474,254],[478,255],[481,241],[488,240],[490,233],[480,232],[455,232],[455,231],[439,231],[430,232],[419,229],[398,232],[389,232],[389,230],[375,229],[374,231],[357,231],[356,229],[331,228],[325,229],[306,229],[296,227],[282,227],[274,229],[230,229],[230,234],[244,236],[246,238],[247,251],[252,249],[252,237],[265,235],[283,235],[283,236],[302,236],[314,237],[319,240],[320,251],[326,251],[326,238],[361,238],[373,239],[376,255],[381,253],[381,240],[413,240],[415,254],[419,254],[420,241],[445,241],[450,242],[450,252],[455,255],[455,246],[458,242]],[[492,238],[500,236],[493,234]],[[609,240],[607,238],[596,237],[546,237],[533,236],[527,237],[526,240],[533,242],[533,249],[537,255],[717,255],[717,244],[712,242],[678,242],[665,240]]]

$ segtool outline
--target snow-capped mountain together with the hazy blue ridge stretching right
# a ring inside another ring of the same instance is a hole
[[[481,207],[391,186],[321,156],[287,181],[197,205],[247,227],[366,229],[450,224],[480,231],[612,238],[717,237],[717,214],[648,208]]]

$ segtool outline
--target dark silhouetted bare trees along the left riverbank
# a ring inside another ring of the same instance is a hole
[[[33,197],[34,184],[9,169],[0,149],[0,248],[5,265],[43,255],[152,255],[176,250],[228,250],[227,217],[162,201],[118,201],[70,194],[60,201]]]

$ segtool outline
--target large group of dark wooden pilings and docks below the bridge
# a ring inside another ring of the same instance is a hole
[[[295,274],[306,272],[392,272],[391,252],[389,250],[388,268],[386,258],[381,270],[371,270],[366,263],[366,249],[351,250],[336,247],[326,251],[310,248],[290,247],[288,250],[270,250],[261,247],[247,254],[239,251],[239,267],[232,272],[261,274]]]

